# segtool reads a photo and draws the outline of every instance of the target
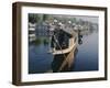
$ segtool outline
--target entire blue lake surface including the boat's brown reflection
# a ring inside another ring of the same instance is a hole
[[[29,74],[98,70],[98,32],[78,32],[78,44],[65,59],[47,53],[47,40],[29,43]]]

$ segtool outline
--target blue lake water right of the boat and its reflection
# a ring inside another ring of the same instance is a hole
[[[82,44],[78,45],[74,72],[98,70],[98,33],[84,35]]]

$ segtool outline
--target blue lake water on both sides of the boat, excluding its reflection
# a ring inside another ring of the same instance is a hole
[[[81,41],[70,72],[98,70],[98,32],[82,35]],[[29,43],[29,74],[52,73],[54,57],[48,50],[48,44]]]

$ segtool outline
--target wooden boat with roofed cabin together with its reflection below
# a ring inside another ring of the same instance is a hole
[[[65,45],[63,45],[65,44]],[[78,35],[72,29],[58,29],[52,36],[51,52],[54,55],[52,68],[54,73],[73,70]]]

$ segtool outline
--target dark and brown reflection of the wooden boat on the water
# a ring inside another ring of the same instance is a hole
[[[64,55],[56,55],[52,63],[53,73],[72,72],[77,52],[78,50],[75,47],[70,53],[65,55],[68,58],[65,58]]]

